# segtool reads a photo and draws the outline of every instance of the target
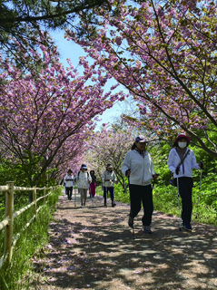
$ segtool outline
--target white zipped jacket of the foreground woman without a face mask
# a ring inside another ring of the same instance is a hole
[[[127,169],[131,169],[130,184],[149,185],[155,174],[153,160],[147,151],[144,157],[136,150],[128,151],[122,165],[124,175]]]

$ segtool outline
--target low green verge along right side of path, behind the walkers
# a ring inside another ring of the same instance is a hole
[[[208,182],[203,182],[198,203],[199,182],[194,183],[192,189],[192,221],[217,226],[216,187],[217,182],[212,181],[213,189],[211,188],[211,183],[208,186]],[[104,196],[101,187],[96,188],[96,194]],[[116,201],[129,204],[129,189],[127,189],[127,194],[124,194],[121,186],[119,184],[115,185],[114,198]],[[180,202],[182,202],[181,198]],[[154,210],[179,217],[177,188],[166,185],[163,182],[157,183],[153,188],[153,208]]]

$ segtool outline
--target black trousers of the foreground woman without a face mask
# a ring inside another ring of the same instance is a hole
[[[141,186],[130,184],[131,198],[131,218],[135,218],[141,210],[141,201],[143,203],[143,226],[150,226],[153,217],[153,189],[151,184]]]

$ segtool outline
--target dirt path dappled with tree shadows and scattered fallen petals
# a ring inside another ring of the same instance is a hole
[[[178,218],[153,214],[153,234],[135,218],[135,239],[127,226],[129,206],[104,208],[102,197],[85,208],[59,198],[50,243],[34,259],[33,289],[216,289],[216,227],[192,223],[179,231]]]

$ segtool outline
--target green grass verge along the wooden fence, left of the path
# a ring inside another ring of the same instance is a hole
[[[47,203],[38,214],[35,221],[22,233],[17,241],[13,259],[10,266],[4,266],[0,272],[1,290],[29,289],[34,271],[32,271],[31,258],[38,249],[44,247],[48,241],[49,222],[53,218],[55,204],[62,189],[54,190],[47,198]],[[15,218],[15,232],[24,227],[25,223],[33,217],[33,209]]]

